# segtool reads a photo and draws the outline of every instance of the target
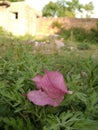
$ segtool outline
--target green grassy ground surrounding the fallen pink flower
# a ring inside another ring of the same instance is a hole
[[[79,51],[50,47],[47,53],[23,41],[0,40],[0,130],[97,130],[97,46]],[[36,106],[23,96],[35,89],[31,78],[43,74],[43,67],[59,70],[73,91],[59,107]]]

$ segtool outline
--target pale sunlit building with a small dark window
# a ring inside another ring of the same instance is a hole
[[[0,26],[13,35],[36,35],[36,20],[41,12],[26,2],[0,2]]]

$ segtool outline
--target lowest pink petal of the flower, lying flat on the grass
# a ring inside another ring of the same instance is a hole
[[[27,98],[36,105],[50,105],[56,107],[60,105],[64,96],[61,96],[58,99],[52,99],[45,92],[41,90],[34,90],[27,94]]]

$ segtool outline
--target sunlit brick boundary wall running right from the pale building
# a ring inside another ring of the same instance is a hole
[[[57,28],[53,28],[53,22],[58,21],[63,28],[69,29],[71,27],[82,27],[86,30],[91,28],[97,28],[98,19],[87,18],[37,18],[36,19],[36,34],[35,35],[51,35],[58,31]]]

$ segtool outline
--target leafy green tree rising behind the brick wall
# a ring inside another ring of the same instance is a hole
[[[49,2],[44,6],[42,13],[45,17],[75,17],[77,13],[92,13],[94,7],[92,2],[86,5],[80,4],[79,0],[58,0],[57,2]]]

